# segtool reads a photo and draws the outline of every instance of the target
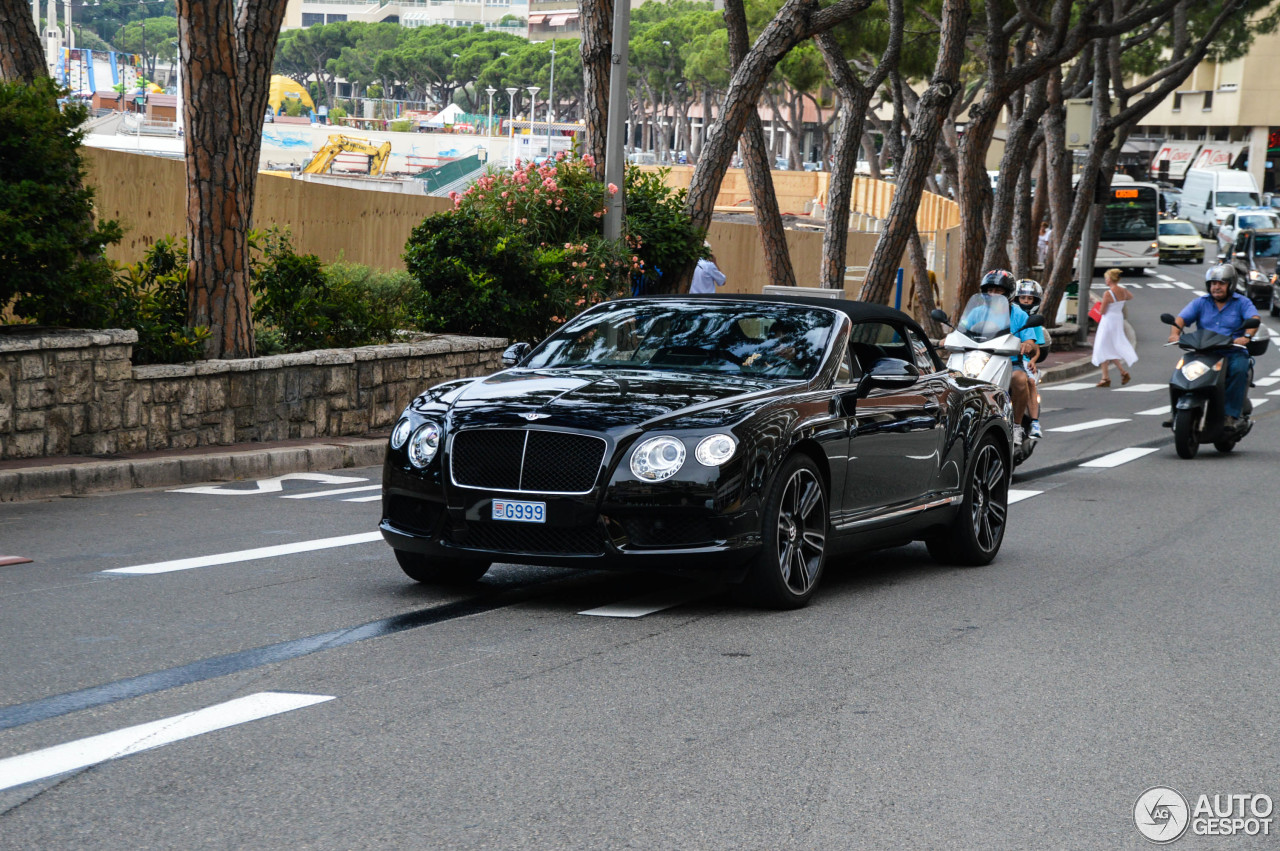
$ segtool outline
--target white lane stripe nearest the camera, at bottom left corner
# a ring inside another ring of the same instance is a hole
[[[183,738],[210,733],[215,729],[225,729],[236,724],[312,706],[326,700],[333,700],[333,696],[261,691],[256,695],[237,697],[172,718],[161,718],[111,733],[78,738],[64,745],[10,756],[0,760],[0,790],[56,777],[122,756],[140,754],[161,745],[170,745]]]

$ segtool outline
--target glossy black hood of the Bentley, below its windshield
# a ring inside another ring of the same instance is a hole
[[[703,412],[736,397],[794,386],[777,380],[644,370],[506,370],[451,394],[454,427],[561,426],[609,431]]]

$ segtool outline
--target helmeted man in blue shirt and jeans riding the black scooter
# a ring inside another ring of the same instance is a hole
[[[1230,337],[1233,346],[1221,351],[1226,358],[1226,388],[1222,398],[1222,425],[1234,429],[1244,408],[1244,394],[1249,385],[1249,339],[1256,328],[1242,330],[1244,321],[1254,319],[1258,308],[1253,302],[1235,292],[1235,269],[1228,264],[1211,266],[1204,273],[1204,289],[1208,292],[1192,302],[1174,317],[1174,329],[1169,342],[1176,343],[1183,329],[1199,325],[1224,337]]]

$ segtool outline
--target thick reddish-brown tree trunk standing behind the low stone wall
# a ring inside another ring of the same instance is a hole
[[[187,314],[210,358],[252,357],[248,229],[287,0],[178,0],[187,159]],[[197,109],[198,105],[198,109]]]

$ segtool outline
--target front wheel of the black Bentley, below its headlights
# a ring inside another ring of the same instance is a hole
[[[758,607],[797,609],[813,596],[827,562],[827,486],[804,454],[783,462],[764,499],[760,552],[742,595]]]

